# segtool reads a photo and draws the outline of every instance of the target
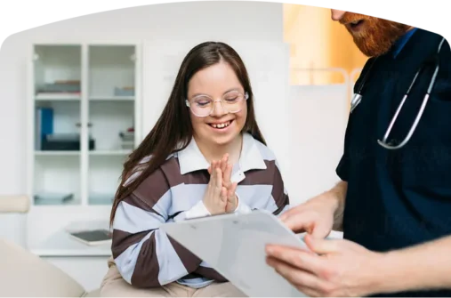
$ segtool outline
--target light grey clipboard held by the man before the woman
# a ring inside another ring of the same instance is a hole
[[[266,264],[265,246],[308,249],[270,212],[222,214],[160,227],[250,298],[307,298]]]

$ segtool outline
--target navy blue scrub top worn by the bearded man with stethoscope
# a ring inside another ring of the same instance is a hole
[[[366,248],[384,252],[451,235],[451,44],[439,54],[439,75],[415,133],[402,149],[377,143],[391,122],[415,73],[425,71],[393,126],[389,140],[402,141],[430,84],[439,33],[416,28],[399,39],[390,52],[371,58],[358,78],[368,72],[362,101],[350,114],[344,152],[336,173],[348,181],[343,236]],[[451,247],[450,247],[451,253]],[[406,277],[408,278],[408,276]],[[374,297],[451,297],[431,291]]]

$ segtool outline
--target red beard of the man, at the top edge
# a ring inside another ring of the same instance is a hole
[[[358,29],[351,22],[361,20]],[[358,49],[368,57],[380,56],[388,52],[400,36],[410,26],[397,20],[376,17],[363,12],[346,12],[340,23],[345,25]]]

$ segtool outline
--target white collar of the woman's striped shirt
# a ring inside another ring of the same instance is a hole
[[[266,164],[259,144],[250,133],[243,134],[243,146],[239,157],[239,167],[242,172],[249,170],[265,170]],[[206,170],[209,166],[202,152],[197,147],[194,138],[189,142],[187,148],[177,152],[181,174]]]

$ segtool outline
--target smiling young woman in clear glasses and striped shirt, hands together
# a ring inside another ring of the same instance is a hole
[[[278,214],[288,204],[243,61],[227,44],[198,44],[157,125],[125,163],[101,296],[245,297],[158,227],[254,209]]]

